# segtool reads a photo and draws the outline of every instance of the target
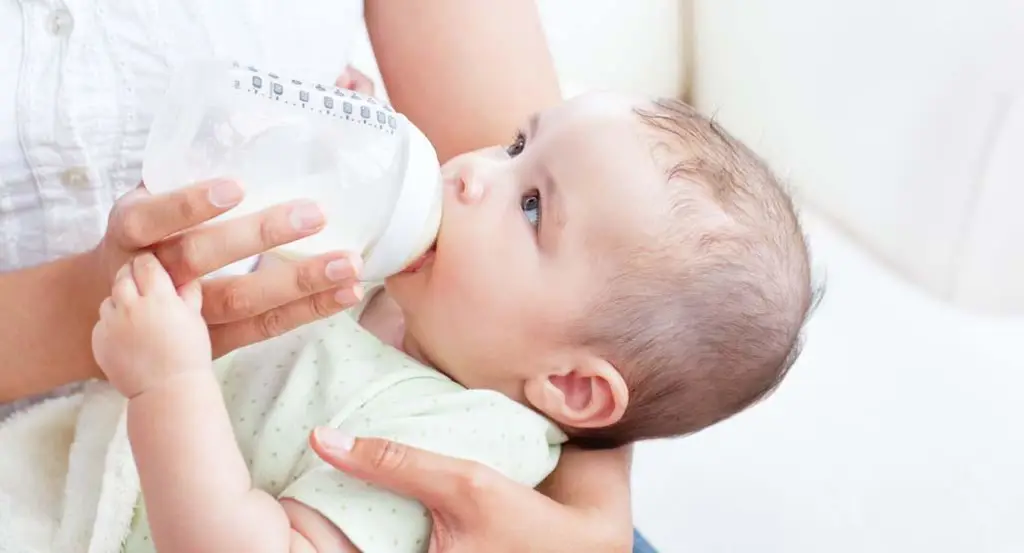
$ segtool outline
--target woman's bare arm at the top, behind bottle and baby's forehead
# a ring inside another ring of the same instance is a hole
[[[511,140],[561,99],[534,2],[366,0],[366,19],[391,103],[441,161]]]

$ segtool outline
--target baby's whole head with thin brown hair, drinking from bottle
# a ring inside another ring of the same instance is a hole
[[[604,446],[764,397],[812,302],[790,199],[674,100],[583,96],[444,166],[437,246],[388,281],[407,346]]]

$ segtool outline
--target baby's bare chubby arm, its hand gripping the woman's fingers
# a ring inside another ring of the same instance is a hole
[[[98,365],[129,398],[128,437],[157,549],[354,551],[308,509],[253,488],[211,367],[200,303],[198,287],[179,293],[156,258],[144,256],[118,274],[93,331]]]

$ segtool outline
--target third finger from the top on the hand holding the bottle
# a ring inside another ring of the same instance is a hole
[[[303,261],[261,262],[255,272],[203,283],[203,316],[211,325],[234,323],[319,292],[350,289],[357,285],[361,267],[358,256],[344,253]]]

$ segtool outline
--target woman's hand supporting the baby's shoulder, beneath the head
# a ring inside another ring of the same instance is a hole
[[[393,441],[353,440],[317,429],[310,443],[339,470],[423,503],[433,518],[430,553],[632,549],[628,454],[567,451],[563,464],[575,465],[580,456],[605,457],[588,457],[586,467],[579,466],[580,478],[572,478],[577,485],[555,485],[551,495],[562,505],[477,463]]]

